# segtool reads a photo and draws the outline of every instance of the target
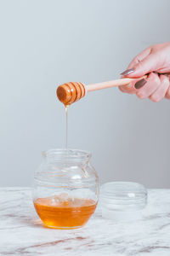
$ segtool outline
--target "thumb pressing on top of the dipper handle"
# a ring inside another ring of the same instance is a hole
[[[142,61],[137,62],[133,66],[133,72],[129,73],[127,77],[129,78],[139,78],[144,76],[146,73],[154,72],[157,69],[157,63],[159,61],[158,55],[150,54],[147,55]]]

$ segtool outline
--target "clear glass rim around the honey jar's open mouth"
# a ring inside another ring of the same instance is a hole
[[[43,157],[54,156],[58,159],[71,159],[71,160],[88,160],[91,153],[82,149],[73,148],[52,148],[47,151],[42,151]]]

